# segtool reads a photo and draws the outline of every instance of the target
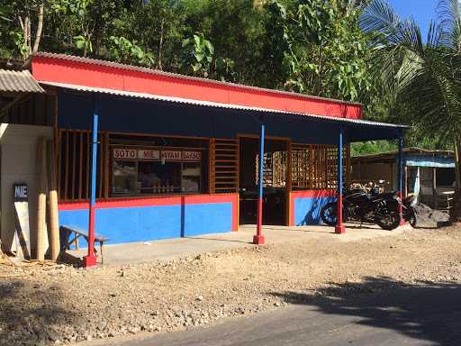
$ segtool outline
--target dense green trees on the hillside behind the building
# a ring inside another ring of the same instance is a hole
[[[368,3],[369,0],[4,0],[0,5],[0,57],[27,59],[38,50],[59,52],[356,101],[363,103],[368,119],[413,124],[415,130],[406,139],[411,145],[445,146],[447,141],[442,137],[436,139],[422,132],[411,117],[402,116],[410,114],[413,105],[403,102],[405,95],[396,93],[402,83],[394,83],[385,72],[402,61],[411,61],[408,68],[414,67],[419,60],[411,59],[401,49],[390,48],[392,35],[384,32],[384,26],[377,21],[374,26],[366,20],[366,15],[371,18],[370,14],[378,14],[373,11],[379,10],[376,4],[382,2]],[[446,27],[454,23],[448,13],[452,12],[444,12]],[[389,21],[398,20],[388,14]],[[427,44],[416,40],[416,25],[407,26],[413,29],[412,36],[407,40],[395,33],[396,37],[414,43],[418,52],[425,50]],[[432,32],[437,36],[435,28]],[[441,41],[428,44],[440,46],[438,54],[448,50]],[[392,63],[384,58],[384,52],[395,53]],[[448,62],[453,59],[447,55]],[[381,73],[376,73],[380,68]],[[428,82],[422,75],[419,78],[420,86]],[[406,96],[410,99],[414,94]],[[389,145],[375,142],[357,146],[355,152],[388,149]]]

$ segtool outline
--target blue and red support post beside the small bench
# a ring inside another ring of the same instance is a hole
[[[91,159],[91,180],[90,180],[90,203],[88,222],[88,254],[83,259],[84,267],[93,267],[96,264],[95,257],[95,204],[96,204],[96,169],[97,169],[97,127],[99,121],[100,105],[99,97],[95,96],[95,109],[93,112],[93,143]]]

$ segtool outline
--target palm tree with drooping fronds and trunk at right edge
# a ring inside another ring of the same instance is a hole
[[[361,24],[374,37],[372,71],[401,121],[422,135],[450,145],[456,158],[456,208],[461,220],[461,4],[441,0],[438,20],[424,41],[411,18],[402,20],[384,0],[364,8]]]

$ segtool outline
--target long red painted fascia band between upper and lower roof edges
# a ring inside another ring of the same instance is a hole
[[[108,67],[88,61],[34,56],[32,75],[41,82],[102,87],[331,117],[362,118],[360,105],[309,96],[281,94],[268,89],[239,87],[225,83],[165,76],[155,72]]]

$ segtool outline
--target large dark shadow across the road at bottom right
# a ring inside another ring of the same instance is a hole
[[[357,317],[357,324],[393,330],[431,345],[461,344],[461,283],[390,278],[333,284],[316,294],[272,293],[288,303],[308,305],[322,314]]]

